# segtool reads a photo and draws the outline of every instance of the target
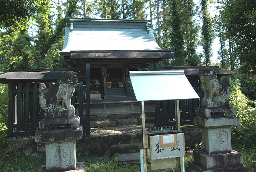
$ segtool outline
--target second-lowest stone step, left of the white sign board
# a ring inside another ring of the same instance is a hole
[[[112,145],[110,147],[110,154],[114,155],[116,153],[118,153],[118,154],[135,153],[135,152],[140,152],[140,149],[142,149],[141,143],[128,143],[128,144]]]

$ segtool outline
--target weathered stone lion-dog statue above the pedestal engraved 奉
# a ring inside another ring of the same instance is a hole
[[[220,82],[217,78],[216,68],[212,67],[201,68],[199,78],[204,98],[201,100],[201,107],[196,109],[196,113],[206,118],[210,118],[211,113],[214,112],[226,117],[234,116],[236,110],[229,107],[231,86],[228,78],[224,78]]]

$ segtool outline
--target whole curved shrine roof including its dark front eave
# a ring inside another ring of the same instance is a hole
[[[66,59],[171,59],[149,28],[150,20],[66,18],[65,40],[60,55]],[[154,53],[154,56],[150,56]],[[72,55],[74,54],[74,55]]]

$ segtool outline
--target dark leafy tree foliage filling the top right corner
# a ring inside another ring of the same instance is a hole
[[[255,0],[224,0],[221,3],[220,16],[229,39],[230,59],[240,64],[244,74],[256,74]]]

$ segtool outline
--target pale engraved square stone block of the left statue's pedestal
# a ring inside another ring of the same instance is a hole
[[[46,143],[46,170],[76,169],[76,142]]]

